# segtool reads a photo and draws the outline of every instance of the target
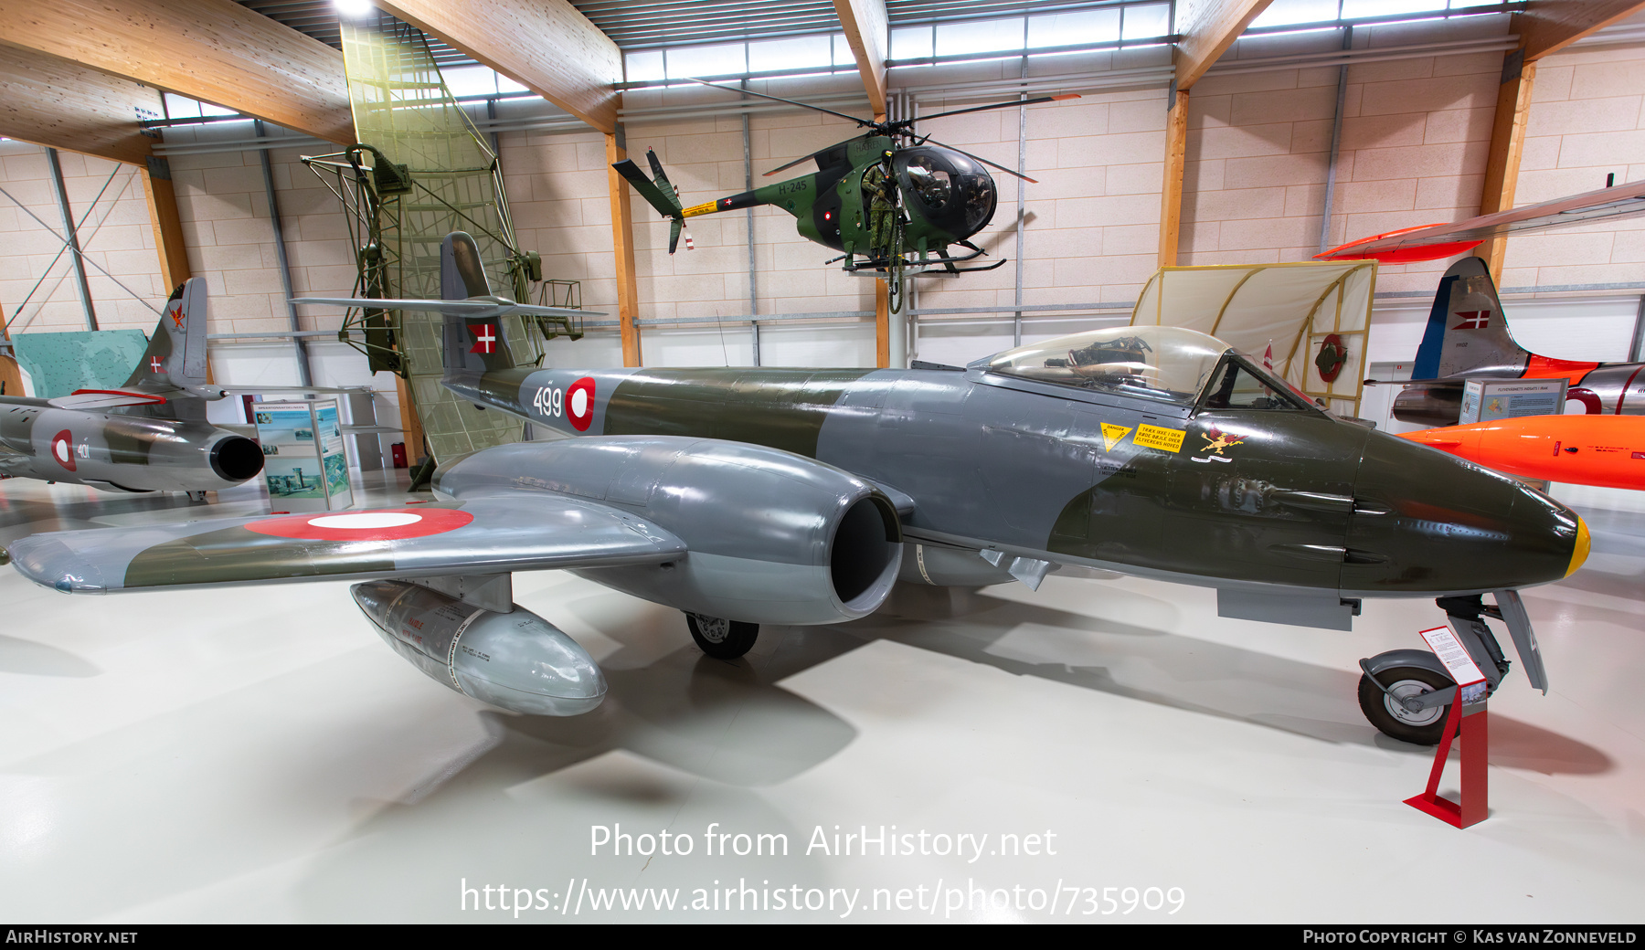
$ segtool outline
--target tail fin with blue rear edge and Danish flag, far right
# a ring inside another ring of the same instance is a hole
[[[1469,256],[1451,265],[1439,278],[1411,378],[1492,371],[1518,376],[1530,357],[1508,332],[1508,317],[1485,261]]]

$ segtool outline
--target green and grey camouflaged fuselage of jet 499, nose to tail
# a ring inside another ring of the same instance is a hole
[[[913,498],[911,541],[1219,588],[1489,592],[1564,577],[1579,546],[1553,500],[1324,413],[1196,411],[979,367],[508,368],[446,385],[568,436],[816,459]]]

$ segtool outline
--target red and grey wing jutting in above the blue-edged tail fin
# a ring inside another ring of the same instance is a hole
[[[1318,253],[1314,258],[1332,261],[1377,258],[1382,263],[1433,261],[1462,253],[1499,235],[1536,232],[1637,214],[1645,214],[1645,181],[1602,187],[1513,210],[1471,217],[1454,224],[1431,224],[1392,230],[1349,242]]]

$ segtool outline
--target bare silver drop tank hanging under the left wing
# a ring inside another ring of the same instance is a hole
[[[349,588],[378,636],[429,679],[495,707],[569,717],[600,705],[594,659],[541,616],[497,613],[403,580]]]

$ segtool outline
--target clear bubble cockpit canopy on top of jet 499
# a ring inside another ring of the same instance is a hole
[[[1007,350],[992,373],[1191,406],[1227,344],[1179,327],[1109,327]]]

